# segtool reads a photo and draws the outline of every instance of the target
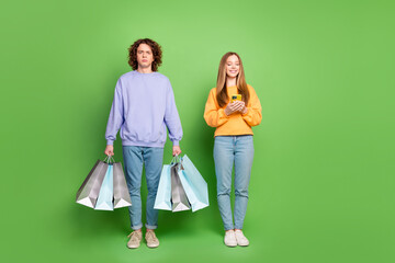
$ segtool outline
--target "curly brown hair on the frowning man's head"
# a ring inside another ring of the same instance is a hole
[[[140,44],[147,44],[153,50],[154,61],[151,65],[153,71],[158,71],[159,66],[161,65],[161,47],[158,43],[149,38],[140,38],[133,43],[128,48],[128,65],[136,70],[138,68],[137,62],[137,48]]]

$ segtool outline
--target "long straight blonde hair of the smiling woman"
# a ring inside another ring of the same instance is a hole
[[[237,90],[239,94],[241,94],[241,100],[246,103],[246,106],[249,101],[249,91],[247,88],[241,58],[237,53],[228,52],[221,58],[218,76],[217,76],[216,99],[221,107],[225,106],[229,101],[226,89],[226,60],[228,59],[228,57],[233,55],[235,55],[239,59],[239,64],[240,64],[239,73],[236,77]]]

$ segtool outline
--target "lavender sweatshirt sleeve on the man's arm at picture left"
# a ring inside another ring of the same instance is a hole
[[[123,99],[122,99],[122,83],[121,79],[116,82],[114,100],[111,106],[108,126],[105,129],[105,139],[108,145],[113,145],[116,139],[116,134],[124,123],[123,115]]]

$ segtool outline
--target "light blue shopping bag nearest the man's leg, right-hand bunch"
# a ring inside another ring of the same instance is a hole
[[[154,208],[171,210],[171,165],[165,164],[160,174]]]

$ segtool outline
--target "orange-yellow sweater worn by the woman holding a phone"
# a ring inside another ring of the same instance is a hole
[[[247,87],[250,93],[250,99],[247,105],[247,113],[241,114],[237,112],[230,114],[229,116],[227,116],[224,112],[226,105],[219,107],[217,103],[216,88],[213,88],[210,91],[204,110],[204,119],[208,126],[216,127],[214,136],[253,135],[251,126],[260,124],[262,119],[262,107],[252,87]],[[227,87],[227,93],[230,102],[230,95],[238,94],[237,87]]]

